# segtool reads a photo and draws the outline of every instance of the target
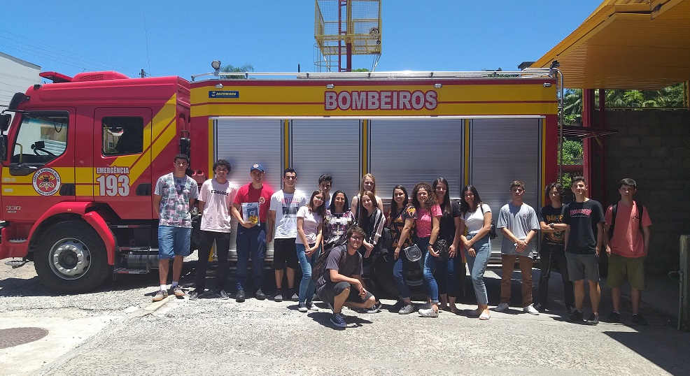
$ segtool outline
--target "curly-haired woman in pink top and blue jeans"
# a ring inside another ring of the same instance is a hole
[[[425,182],[417,183],[412,189],[412,205],[414,205],[414,217],[411,219],[414,219],[417,233],[415,243],[424,253],[424,288],[427,296],[431,298],[431,307],[421,308],[419,314],[422,317],[438,317],[439,287],[433,274],[438,252],[433,249],[432,244],[435,243],[439,234],[442,212],[436,203],[434,191]],[[411,220],[408,219],[400,234],[401,241],[407,238],[410,228]]]

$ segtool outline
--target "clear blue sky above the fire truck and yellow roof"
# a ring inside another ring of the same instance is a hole
[[[602,0],[383,0],[376,71],[516,70],[568,36]],[[335,3],[335,2],[334,2]],[[74,75],[316,71],[314,1],[25,1],[5,4],[0,51]],[[355,68],[371,68],[355,57]]]

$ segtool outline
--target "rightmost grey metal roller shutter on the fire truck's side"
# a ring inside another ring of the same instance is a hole
[[[491,118],[472,120],[470,180],[484,203],[491,207],[498,224],[500,208],[510,201],[510,183],[525,183],[524,202],[540,208],[541,120],[536,118]],[[503,236],[491,240],[492,256],[500,259]],[[538,249],[537,237],[535,250]]]

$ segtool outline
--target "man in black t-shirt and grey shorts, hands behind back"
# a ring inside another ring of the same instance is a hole
[[[565,258],[568,260],[568,275],[575,284],[575,311],[570,321],[582,322],[584,303],[584,280],[589,282],[589,298],[592,314],[588,324],[599,324],[599,252],[604,238],[604,210],[598,201],[587,198],[587,183],[582,176],[572,179],[572,193],[575,201],[563,212],[565,228]]]

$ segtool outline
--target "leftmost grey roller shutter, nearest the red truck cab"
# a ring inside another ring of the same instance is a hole
[[[213,120],[216,140],[215,159],[227,159],[232,166],[228,180],[241,187],[250,182],[249,167],[262,164],[266,169],[264,184],[274,191],[281,189],[283,170],[281,167],[283,120],[218,118]],[[237,256],[235,238],[237,221],[232,220],[230,257]],[[273,258],[273,243],[268,247],[267,257]]]

